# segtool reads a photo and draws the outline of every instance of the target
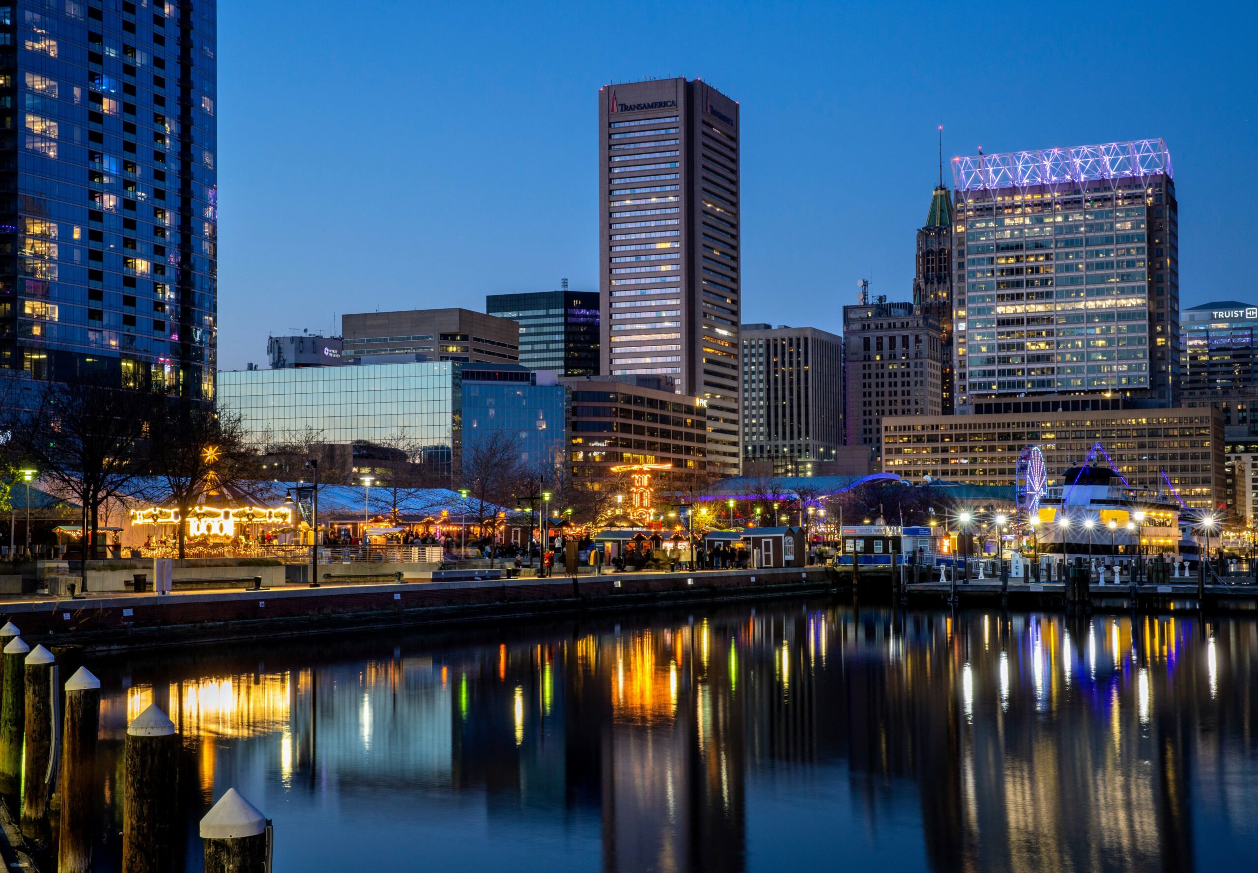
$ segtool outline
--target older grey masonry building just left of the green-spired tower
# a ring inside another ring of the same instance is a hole
[[[944,334],[911,303],[877,300],[843,308],[849,446],[882,456],[884,416],[944,413]]]

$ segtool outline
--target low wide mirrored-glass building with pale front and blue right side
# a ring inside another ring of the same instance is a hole
[[[309,435],[318,443],[404,443],[415,462],[460,469],[481,435],[502,431],[532,465],[564,451],[566,389],[523,367],[413,362],[225,371],[219,408],[262,447]]]

